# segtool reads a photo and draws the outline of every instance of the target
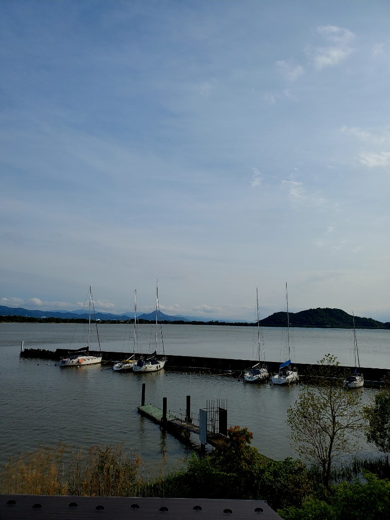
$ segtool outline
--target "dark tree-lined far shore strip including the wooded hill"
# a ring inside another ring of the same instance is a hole
[[[172,317],[174,318],[174,317]],[[298,313],[289,313],[290,327],[300,328],[330,328],[330,329],[352,329],[352,316],[341,309],[317,308],[302,310]],[[87,323],[85,318],[58,318],[58,317],[33,317],[20,315],[0,316],[0,321],[3,323]],[[95,320],[91,320],[95,322]],[[98,323],[118,324],[118,323],[134,323],[134,318],[124,319],[100,319],[96,320]],[[140,324],[154,323],[154,320],[138,319]],[[287,322],[287,313],[274,313],[267,318],[261,320],[262,327],[285,327]],[[198,321],[198,320],[182,320],[170,319],[161,320],[159,323],[173,324],[173,325],[206,325],[206,326],[230,326],[230,327],[257,327],[255,322],[228,322],[228,321]],[[355,328],[357,329],[384,329],[390,330],[390,322],[383,323],[382,321],[374,320],[372,318],[359,318],[355,316]]]

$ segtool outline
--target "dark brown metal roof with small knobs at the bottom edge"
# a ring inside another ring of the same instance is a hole
[[[0,495],[2,520],[226,518],[280,520],[263,500]]]

